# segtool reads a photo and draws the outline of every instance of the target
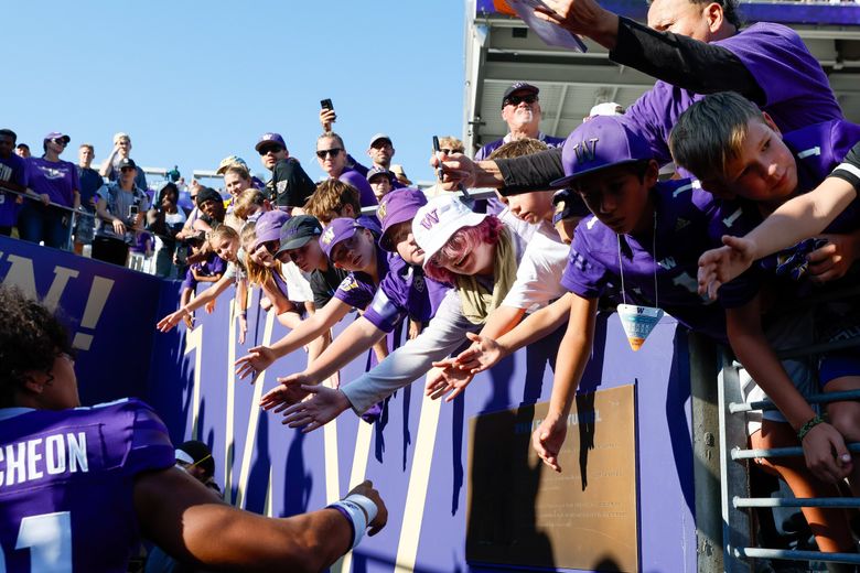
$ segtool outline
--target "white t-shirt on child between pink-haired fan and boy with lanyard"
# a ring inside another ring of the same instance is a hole
[[[502,301],[503,306],[534,312],[565,294],[561,275],[570,247],[549,221],[535,227],[517,268],[517,280]]]

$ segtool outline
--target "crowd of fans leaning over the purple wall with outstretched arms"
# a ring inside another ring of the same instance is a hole
[[[860,126],[845,119],[794,31],[741,29],[731,1],[655,0],[649,28],[593,0],[552,7],[541,17],[655,76],[655,87],[626,111],[602,102],[553,138],[540,131],[539,88],[516,82],[498,102],[508,134],[479,150],[440,138],[430,156],[438,181],[426,190],[391,163],[395,142],[385,133],[367,141],[364,165],[323,107],[323,181],[267,132],[254,149],[268,181],[230,155],[217,170],[226,196],[193,182],[192,205],[182,204],[175,169],[148,190],[126,133],[96,171],[92,145],[79,147],[77,165],[60,159],[65,133],[46,134],[43,155],[28,158],[4,129],[0,230],[78,252],[92,245],[94,258],[120,264],[154,251],[160,277],[184,279],[161,332],[193,327],[197,309],[229,292],[244,344],[248,292],[259,288],[289,332],[249,348],[236,371],[254,379],[307,347],[304,369],[280,378],[261,402],[305,432],[347,410],[373,423],[388,396],[424,375],[428,396],[454,400],[477,372],[561,328],[549,413],[533,434],[557,472],[599,310],[617,309],[634,350],[669,314],[729,345],[744,367],[745,398],[777,407],[750,418],[751,445],[802,446],[803,458],[757,460],[759,471],[797,497],[860,494],[860,460],[847,446],[860,441],[860,406],[836,400],[819,410],[808,401],[860,389],[860,359],[829,349],[781,360],[774,350],[857,329],[853,301],[815,312],[802,303],[857,281]],[[475,201],[475,188],[496,192]],[[332,326],[353,310],[358,318],[333,338]],[[389,347],[387,334],[401,323],[407,339]],[[322,385],[368,350],[375,367],[337,388]],[[376,515],[354,506],[336,508],[352,526],[350,547]],[[803,513],[821,551],[857,551],[848,511]]]

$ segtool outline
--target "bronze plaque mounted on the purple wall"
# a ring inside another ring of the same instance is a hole
[[[560,474],[531,448],[547,408],[470,421],[466,560],[637,572],[634,387],[577,396]]]

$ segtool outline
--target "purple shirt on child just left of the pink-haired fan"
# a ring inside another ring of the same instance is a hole
[[[389,333],[409,316],[426,323],[436,314],[448,286],[424,277],[420,267],[407,264],[399,256],[388,261],[388,273],[367,306],[364,317]]]

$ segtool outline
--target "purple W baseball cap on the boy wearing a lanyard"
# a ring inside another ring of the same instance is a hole
[[[595,171],[654,158],[645,138],[617,116],[598,116],[574,129],[561,151],[565,177],[550,183],[552,188],[569,186]]]

